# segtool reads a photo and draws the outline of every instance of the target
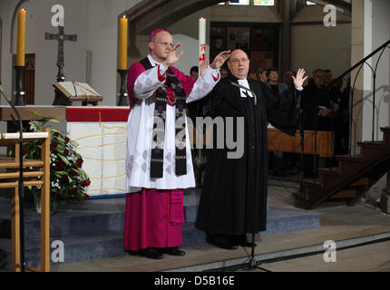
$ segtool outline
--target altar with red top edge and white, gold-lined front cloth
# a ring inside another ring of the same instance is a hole
[[[125,194],[125,149],[128,107],[17,107],[24,121],[39,120],[34,113],[61,121],[52,128],[69,132],[79,146],[83,170],[91,179],[86,193],[91,198],[119,197]],[[0,106],[0,120],[11,121],[9,106]]]

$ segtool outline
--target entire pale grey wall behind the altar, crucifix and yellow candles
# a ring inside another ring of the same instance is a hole
[[[115,105],[117,92],[118,15],[141,0],[39,0],[26,1],[26,53],[35,53],[35,104],[52,104],[58,69],[57,43],[44,41],[44,33],[57,33],[51,24],[52,5],[63,5],[65,34],[77,34],[77,42],[64,44],[64,74],[67,81],[85,82],[86,51],[92,51],[93,88],[103,96],[102,105]],[[19,0],[2,1],[0,17],[3,19],[2,82],[7,92],[12,91],[12,53],[10,31],[12,14]],[[17,19],[15,20],[16,42]],[[14,53],[16,44],[14,45]],[[14,81],[15,82],[15,81]],[[4,102],[2,102],[4,103]]]

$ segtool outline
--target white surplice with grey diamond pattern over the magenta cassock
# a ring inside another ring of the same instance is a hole
[[[187,189],[195,187],[190,151],[190,135],[186,121],[186,158],[187,174],[175,174],[175,106],[167,104],[165,119],[165,141],[163,175],[160,179],[151,179],[151,136],[153,129],[155,92],[163,87],[164,82],[158,79],[166,72],[161,63],[155,62],[148,55],[153,68],[139,75],[134,83],[134,103],[127,121],[126,150],[126,192],[137,192],[146,189]],[[218,78],[218,80],[217,80]],[[194,83],[186,102],[200,100],[211,92],[220,80],[219,69],[210,66]]]

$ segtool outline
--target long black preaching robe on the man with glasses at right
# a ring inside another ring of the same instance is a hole
[[[243,235],[266,230],[268,179],[268,121],[281,131],[294,135],[297,129],[297,102],[300,94],[291,87],[278,96],[263,83],[248,80],[256,93],[243,98],[233,75],[219,81],[210,92],[211,118],[244,117],[244,153],[239,159],[228,159],[226,146],[217,149],[216,126],[214,146],[208,150],[196,227],[210,234]],[[237,141],[237,120],[233,136]],[[225,137],[226,139],[226,137]]]

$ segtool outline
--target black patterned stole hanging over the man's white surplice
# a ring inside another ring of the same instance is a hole
[[[152,68],[149,59],[146,57],[140,62],[145,70]],[[175,101],[175,169],[176,175],[187,174],[186,159],[186,94],[177,76],[171,68],[167,70],[167,80],[163,88],[155,91],[156,102],[154,107],[153,132],[151,140],[151,179],[161,179],[164,163],[164,142],[165,142],[165,118],[167,111],[166,87],[170,86],[174,92]],[[170,100],[171,101],[171,100]]]

